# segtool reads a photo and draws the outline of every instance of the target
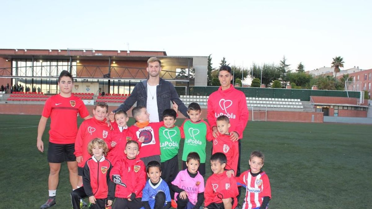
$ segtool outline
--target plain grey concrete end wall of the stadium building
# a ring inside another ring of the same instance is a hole
[[[193,57],[193,68],[195,68],[194,86],[207,85],[208,57]]]

